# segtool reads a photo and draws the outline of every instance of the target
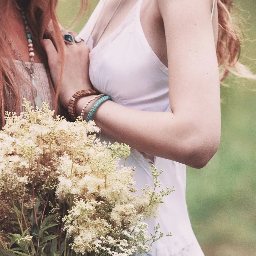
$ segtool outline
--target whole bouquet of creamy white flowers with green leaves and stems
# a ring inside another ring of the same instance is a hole
[[[100,142],[93,121],[54,119],[46,103],[34,110],[25,100],[23,106],[20,116],[6,113],[0,131],[0,255],[150,251],[164,234],[157,226],[148,235],[144,220],[173,191],[156,192],[162,171],[152,167],[154,188],[139,195],[134,168],[119,167],[129,146]]]

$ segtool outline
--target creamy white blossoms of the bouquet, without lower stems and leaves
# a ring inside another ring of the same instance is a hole
[[[33,110],[25,100],[24,107],[20,116],[7,113],[0,131],[1,196],[11,202],[22,197],[26,206],[36,200],[29,194],[31,187],[41,195],[55,191],[57,203],[49,202],[49,214],[69,209],[64,230],[76,253],[128,256],[150,251],[150,241],[157,238],[148,236],[144,219],[154,216],[162,197],[172,191],[156,192],[161,171],[153,167],[155,188],[138,196],[134,168],[119,168],[120,158],[130,154],[129,146],[101,143],[93,121],[54,119],[46,103]]]

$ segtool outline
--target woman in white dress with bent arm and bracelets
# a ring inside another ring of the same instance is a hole
[[[241,67],[231,8],[232,0],[101,0],[80,36],[91,48],[93,88],[112,101],[81,92],[92,89],[89,76],[82,78],[84,43],[65,48],[62,106],[73,119],[93,119],[103,141],[133,148],[126,164],[136,167],[137,188],[152,185],[152,163],[164,170],[163,186],[175,186],[157,219],[148,220],[151,233],[160,223],[173,235],[154,244],[154,256],[203,255],[187,212],[185,165],[204,167],[219,146],[218,62],[224,79]],[[61,57],[50,40],[44,46],[57,84]]]

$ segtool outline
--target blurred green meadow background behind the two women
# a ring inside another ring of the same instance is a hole
[[[97,3],[91,1],[90,13]],[[243,49],[247,56],[243,63],[256,73],[256,2],[235,4],[246,18],[245,34],[251,39],[246,42],[247,51]],[[64,26],[79,6],[80,0],[60,0],[58,13]],[[74,28],[77,32],[87,18]],[[235,77],[226,83],[228,88],[221,87],[220,148],[205,168],[188,168],[187,204],[206,256],[256,256],[256,83]]]

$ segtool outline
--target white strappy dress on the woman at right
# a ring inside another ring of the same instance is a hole
[[[154,112],[170,111],[168,68],[158,59],[144,35],[140,21],[143,0],[138,0],[129,15],[111,35],[92,48],[91,33],[105,1],[100,1],[80,33],[91,47],[89,72],[93,87],[109,95],[114,102],[128,108]],[[104,134],[101,134],[101,139],[114,142]],[[172,233],[172,237],[164,237],[157,241],[151,254],[203,256],[187,211],[186,166],[164,158],[147,156],[132,149],[126,166],[136,167],[135,181],[139,190],[144,188],[145,184],[153,184],[152,163],[155,163],[157,169],[164,170],[159,177],[163,188],[174,186],[175,191],[165,197],[164,204],[159,207],[158,217],[147,220],[150,233],[154,233],[154,227],[158,223],[161,232]]]

